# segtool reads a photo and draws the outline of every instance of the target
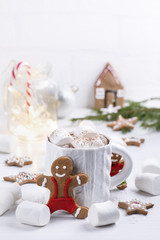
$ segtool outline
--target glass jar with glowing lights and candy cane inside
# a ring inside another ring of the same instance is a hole
[[[15,63],[5,83],[8,128],[22,140],[41,140],[57,128],[57,86],[50,66]]]

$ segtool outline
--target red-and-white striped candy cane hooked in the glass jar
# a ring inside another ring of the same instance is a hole
[[[29,113],[29,107],[31,106],[31,67],[25,62],[19,62],[13,69],[12,69],[12,79],[10,81],[10,86],[14,84],[16,81],[17,74],[20,70],[20,67],[24,67],[26,71],[26,106],[27,112]]]

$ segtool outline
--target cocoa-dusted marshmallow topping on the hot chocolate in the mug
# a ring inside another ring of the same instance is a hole
[[[109,144],[104,135],[92,128],[77,127],[72,131],[56,129],[50,136],[49,141],[63,148],[99,148]]]

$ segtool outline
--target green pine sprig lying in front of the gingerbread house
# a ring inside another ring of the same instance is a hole
[[[96,115],[89,115],[84,118],[73,118],[73,122],[77,120],[99,120],[99,121],[115,121],[118,119],[119,115],[122,115],[124,118],[137,117],[141,122],[143,128],[154,129],[160,131],[160,108],[148,108],[143,104],[147,101],[160,100],[160,98],[150,98],[143,100],[141,102],[134,102],[127,100],[127,106],[118,110],[117,113],[107,113],[102,114],[99,109],[93,109]],[[129,129],[122,129],[122,132],[128,132]]]

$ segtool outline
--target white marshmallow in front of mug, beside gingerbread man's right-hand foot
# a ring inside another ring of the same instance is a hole
[[[111,201],[94,203],[88,211],[89,222],[94,227],[113,224],[118,221],[119,217],[119,210]]]

